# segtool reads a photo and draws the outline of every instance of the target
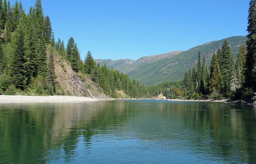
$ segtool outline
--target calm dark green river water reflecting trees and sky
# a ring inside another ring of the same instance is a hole
[[[256,110],[169,101],[0,104],[0,163],[256,163]]]

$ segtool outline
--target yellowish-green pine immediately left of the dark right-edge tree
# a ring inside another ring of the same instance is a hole
[[[242,87],[245,82],[245,61],[246,61],[246,46],[245,44],[242,44],[239,47],[238,58],[235,64],[238,88]]]

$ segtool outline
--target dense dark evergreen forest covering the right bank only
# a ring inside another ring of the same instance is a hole
[[[184,74],[182,90],[185,98],[250,100],[256,92],[256,1],[250,1],[248,16],[248,41],[239,47],[236,60],[228,41],[211,58],[206,66],[205,55],[193,70]]]

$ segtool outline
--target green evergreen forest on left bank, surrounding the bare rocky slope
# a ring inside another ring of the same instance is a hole
[[[73,37],[65,47],[64,41],[55,41],[51,21],[44,16],[42,4],[37,0],[35,6],[26,14],[22,3],[0,1],[0,93],[4,95],[56,95],[58,90],[55,76],[53,51],[66,59],[73,71],[89,76],[103,88],[110,97],[153,97],[167,86],[145,87],[126,74],[100,67],[91,52],[84,61]],[[50,54],[47,54],[50,49]],[[174,85],[175,86],[175,85]],[[160,87],[163,87],[162,89]],[[166,95],[170,95],[167,93]],[[174,97],[174,96],[171,96]]]

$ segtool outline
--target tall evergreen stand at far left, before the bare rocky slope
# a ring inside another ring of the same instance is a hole
[[[43,15],[41,1],[29,8],[22,3],[0,1],[0,93],[29,91],[41,95],[55,92],[52,59],[47,59],[51,42],[50,18]],[[50,57],[51,58],[51,57]]]

